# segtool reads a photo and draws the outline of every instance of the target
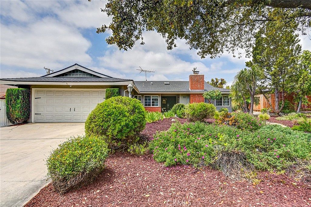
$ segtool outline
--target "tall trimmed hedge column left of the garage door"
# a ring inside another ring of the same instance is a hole
[[[30,114],[30,90],[9,88],[6,93],[7,118],[12,124],[26,122]]]

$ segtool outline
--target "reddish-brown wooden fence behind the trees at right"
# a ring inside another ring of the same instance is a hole
[[[259,98],[259,104],[257,106],[254,105],[253,110],[254,111],[260,111],[262,108],[271,108],[269,106],[269,103],[267,101],[267,99],[263,96],[263,94],[257,94],[255,95],[256,97]],[[269,94],[269,101],[272,105],[272,108],[275,107],[275,94]],[[311,96],[307,96],[308,101],[311,102]],[[280,102],[282,101],[282,94],[279,94],[279,100]],[[284,100],[289,101],[294,107],[292,108],[293,110],[297,110],[298,107],[298,103],[294,102],[294,94],[285,94],[284,95]],[[303,111],[304,109],[310,109],[311,105],[308,104],[302,104],[301,105],[301,110]]]

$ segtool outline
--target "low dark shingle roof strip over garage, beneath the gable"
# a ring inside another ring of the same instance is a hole
[[[122,78],[84,78],[84,77],[31,77],[31,78],[1,78],[2,81],[30,81],[30,82],[121,82],[132,81]]]

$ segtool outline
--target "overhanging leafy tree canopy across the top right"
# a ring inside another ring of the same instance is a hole
[[[283,0],[109,0],[102,9],[112,22],[97,28],[113,34],[106,41],[119,49],[131,49],[143,41],[144,30],[156,30],[167,43],[176,47],[176,39],[185,39],[201,58],[215,58],[225,51],[250,55],[258,29],[267,22],[290,25],[306,34],[311,27],[311,1]]]

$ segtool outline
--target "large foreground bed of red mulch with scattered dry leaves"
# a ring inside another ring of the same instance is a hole
[[[258,173],[262,181],[233,182],[208,167],[167,168],[152,155],[111,155],[98,179],[77,191],[59,195],[51,184],[25,206],[309,206],[310,186],[285,175]],[[308,189],[309,187],[309,189]]]

